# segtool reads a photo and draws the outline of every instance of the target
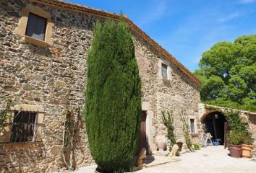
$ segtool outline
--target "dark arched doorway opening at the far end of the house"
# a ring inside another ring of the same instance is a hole
[[[225,142],[225,116],[221,112],[209,112],[202,116],[201,122],[204,124],[205,133],[210,133],[214,141],[223,145]]]

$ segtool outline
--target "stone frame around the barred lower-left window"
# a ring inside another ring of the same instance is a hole
[[[15,111],[24,111],[24,112],[36,112],[35,124],[36,127],[36,140],[35,141],[24,141],[24,142],[12,142],[12,123],[14,121],[14,112]],[[35,143],[42,141],[42,132],[43,132],[43,122],[45,119],[45,112],[43,111],[43,107],[41,105],[14,105],[8,111],[9,118],[7,119],[6,126],[4,127],[4,133],[0,134],[0,144],[1,143]]]

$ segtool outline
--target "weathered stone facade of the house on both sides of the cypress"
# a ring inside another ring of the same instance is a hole
[[[51,45],[42,47],[27,43],[15,32],[20,25],[22,8],[29,5],[51,14],[54,25]],[[12,99],[15,105],[40,105],[44,119],[42,141],[0,143],[0,172],[56,171],[64,166],[61,160],[64,113],[69,105],[78,105],[82,109],[93,24],[97,19],[103,21],[105,18],[78,12],[78,9],[56,7],[46,1],[1,0],[0,6],[0,98]],[[148,143],[154,151],[155,136],[166,134],[161,111],[174,111],[176,138],[182,141],[179,111],[184,110],[187,118],[195,116],[200,126],[197,116],[199,84],[185,73],[186,70],[184,72],[183,66],[174,63],[176,60],[170,61],[145,37],[132,32],[142,79],[142,110],[148,114]],[[161,62],[168,65],[168,79],[161,77]],[[93,163],[82,117],[79,134],[74,162],[77,167],[82,167]],[[195,134],[193,141],[197,139]]]

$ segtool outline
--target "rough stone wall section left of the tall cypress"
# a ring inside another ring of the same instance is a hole
[[[63,167],[60,151],[64,112],[69,105],[83,104],[86,56],[95,17],[33,4],[49,12],[54,22],[54,44],[41,48],[25,43],[14,33],[26,5],[27,1],[20,0],[0,2],[0,97],[12,99],[17,105],[43,107],[40,146],[44,153],[33,146],[0,144],[0,172],[48,172]],[[93,163],[85,125],[82,120],[80,123],[80,141],[74,153],[77,167]]]

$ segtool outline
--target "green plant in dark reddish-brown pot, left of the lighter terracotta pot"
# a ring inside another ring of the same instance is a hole
[[[239,158],[242,156],[242,143],[244,141],[244,133],[239,130],[231,130],[228,135],[229,152],[231,157]]]

